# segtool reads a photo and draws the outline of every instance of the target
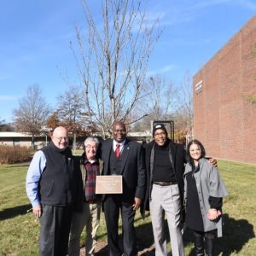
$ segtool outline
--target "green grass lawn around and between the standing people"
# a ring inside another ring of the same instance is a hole
[[[224,237],[218,239],[218,255],[255,255],[256,238],[256,166],[218,161],[219,172],[229,190],[224,199]],[[38,255],[38,220],[27,212],[31,205],[26,197],[25,178],[28,165],[0,166],[0,255]],[[153,245],[150,217],[137,213],[139,247]],[[99,241],[106,241],[102,214]],[[81,243],[84,243],[84,236]],[[192,255],[192,236],[185,231],[186,255]],[[170,250],[170,242],[168,243]]]

